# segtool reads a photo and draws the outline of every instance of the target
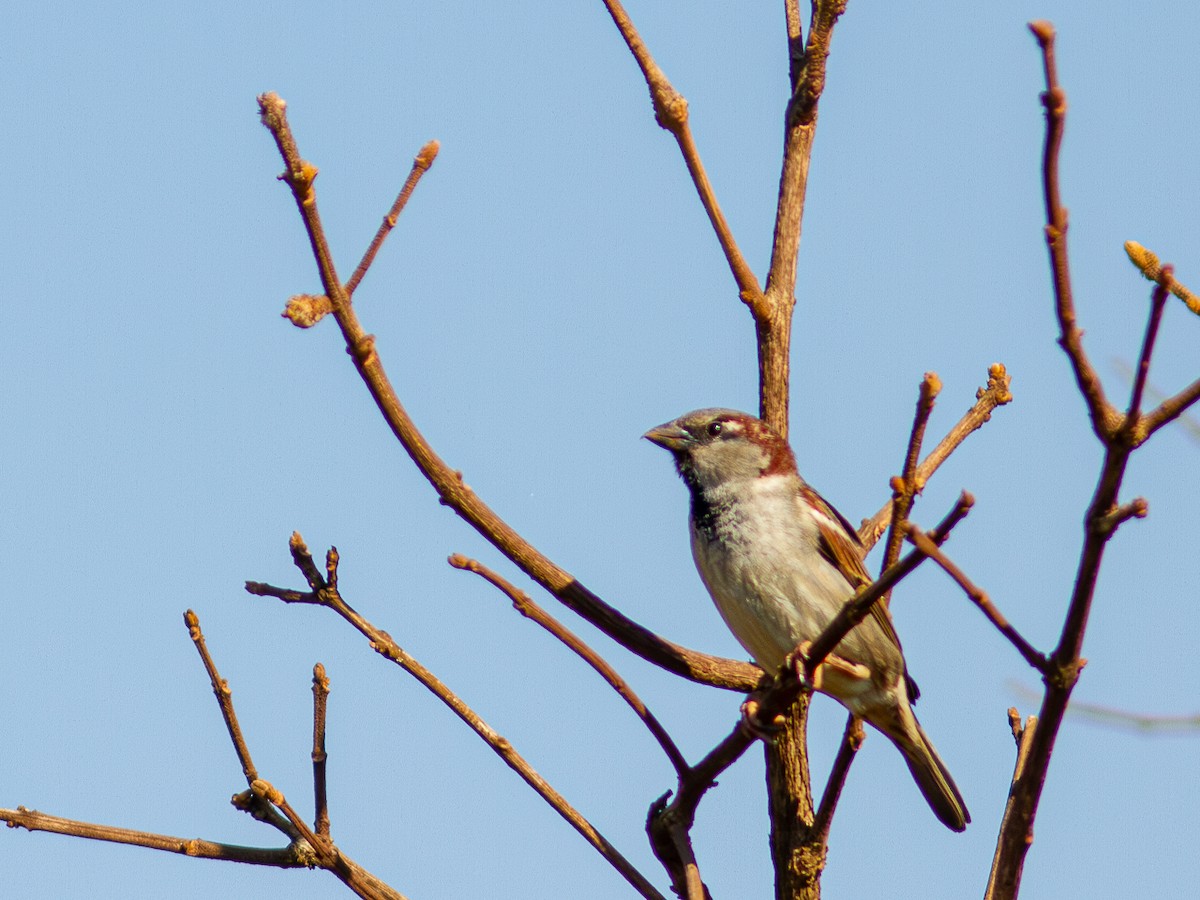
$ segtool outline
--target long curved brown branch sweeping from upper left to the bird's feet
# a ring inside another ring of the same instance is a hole
[[[338,281],[329,241],[317,212],[317,198],[312,187],[317,169],[300,157],[287,121],[287,103],[276,94],[262,95],[258,103],[263,125],[271,132],[283,157],[286,172],[281,179],[292,188],[296,209],[308,234],[308,242],[312,245],[322,286],[332,304],[334,317],[342,330],[347,350],[384,420],[416,468],[437,491],[442,503],[458,514],[568,608],[586,618],[630,652],[668,672],[702,684],[737,691],[752,689],[762,677],[757,666],[689,650],[623,616],[517,534],[470,490],[461,472],[451,469],[438,456],[401,404],[376,353],[374,337],[362,329],[346,289]]]

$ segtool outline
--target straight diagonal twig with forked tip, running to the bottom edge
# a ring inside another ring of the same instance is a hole
[[[296,568],[304,574],[305,580],[308,581],[308,587],[312,589],[308,592],[289,590],[287,588],[277,588],[271,584],[248,581],[246,582],[246,590],[248,593],[257,596],[274,596],[288,604],[312,604],[332,610],[371,642],[371,649],[403,668],[433,694],[433,696],[449,707],[509,768],[516,772],[527,785],[546,800],[551,809],[558,812],[610,865],[620,872],[642,896],[662,900],[662,895],[658,889],[578,810],[568,803],[566,798],[551,787],[550,782],[538,774],[536,769],[512,748],[512,744],[506,738],[497,733],[437,676],[402,649],[392,640],[391,635],[371,624],[342,599],[336,584],[336,551],[331,551],[326,556],[326,571],[334,576],[326,578],[317,569],[312,554],[308,552],[308,547],[305,545],[304,538],[300,536],[299,532],[292,534],[289,547]]]

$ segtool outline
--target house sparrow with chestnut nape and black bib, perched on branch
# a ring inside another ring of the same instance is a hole
[[[650,428],[691,493],[691,552],[734,637],[767,672],[815,641],[871,582],[854,528],[800,478],[787,442],[732,409],[697,409]],[[883,604],[842,638],[814,686],[896,745],[935,815],[955,832],[971,816],[913,715],[917,685]]]

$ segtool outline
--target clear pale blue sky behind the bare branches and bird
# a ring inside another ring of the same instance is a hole
[[[523,581],[439,506],[331,323],[254,96],[289,102],[348,275],[428,139],[442,155],[356,295],[403,401],[468,482],[652,629],[740,655],[692,569],[685,494],[638,439],[701,406],[752,408],[752,328],[673,142],[599,0],[587,4],[25,4],[7,17],[0,142],[0,805],[276,845],[244,787],[181,613],[199,613],[262,774],[311,810],[310,674],[332,678],[343,851],[421,900],[630,892],[474,736],[331,614],[250,598],[299,586],[287,538],[336,544],[347,599],[442,674],[660,886],[642,833],[672,787],[611,691],[451,552]],[[760,275],[786,94],[781,4],[638,2]],[[1060,30],[1063,191],[1086,346],[1114,394],[1148,286],[1136,239],[1200,287],[1200,12],[1190,2],[919,6],[852,0],[829,65],[800,251],[792,437],[852,521],[898,470],[922,373],[940,436],[989,364],[1016,402],[917,508],[960,488],[949,545],[1039,647],[1072,583],[1099,449],[1056,348],[1042,240],[1042,70]],[[1198,374],[1200,322],[1166,314],[1152,380]],[[1195,712],[1200,446],[1158,436],[1103,571],[1076,698]],[[526,587],[528,587],[526,584]],[[532,588],[530,588],[532,589]],[[536,592],[535,592],[536,593]],[[544,595],[547,605],[553,602]],[[871,736],[835,822],[830,898],[977,896],[1013,764],[1018,655],[943,576],[894,602],[922,720],[974,823],[929,814]],[[569,614],[564,614],[571,620]],[[738,697],[680,683],[572,622],[697,758]],[[842,714],[818,700],[823,779]],[[1022,898],[1187,896],[1200,737],[1064,728]],[[768,896],[761,754],[721,779],[696,844],[718,898]],[[463,860],[469,860],[464,863]],[[0,834],[12,896],[344,895],[329,875]]]

